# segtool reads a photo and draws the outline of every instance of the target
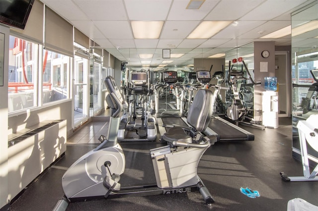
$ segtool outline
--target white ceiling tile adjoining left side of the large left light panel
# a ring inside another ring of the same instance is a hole
[[[133,39],[128,21],[93,20],[93,23],[108,39]]]

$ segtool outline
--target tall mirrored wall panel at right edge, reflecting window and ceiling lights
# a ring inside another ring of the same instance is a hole
[[[297,122],[318,114],[318,2],[292,14],[293,157],[301,159]],[[318,152],[308,146],[312,161]]]

